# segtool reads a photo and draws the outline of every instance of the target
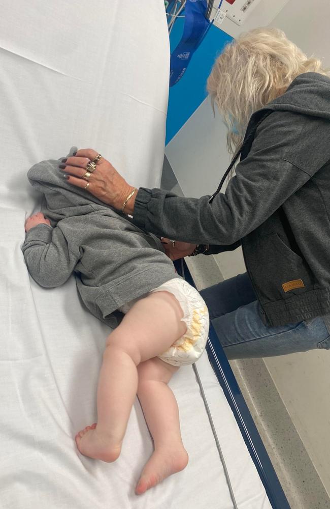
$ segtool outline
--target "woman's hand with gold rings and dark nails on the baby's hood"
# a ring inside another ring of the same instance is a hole
[[[129,186],[125,179],[119,175],[112,164],[104,157],[96,162],[96,168],[90,177],[85,177],[87,164],[97,157],[98,153],[92,149],[80,149],[75,156],[62,159],[60,168],[65,173],[70,184],[83,189],[87,187],[88,192],[96,196],[98,200],[121,210],[123,203],[134,187]],[[133,211],[135,196],[128,201],[125,212],[130,214]]]

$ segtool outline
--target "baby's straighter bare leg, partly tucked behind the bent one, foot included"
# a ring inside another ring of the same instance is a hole
[[[167,385],[178,369],[157,357],[138,366],[138,397],[155,450],[142,471],[136,487],[137,495],[183,470],[188,463],[181,438],[178,405]]]

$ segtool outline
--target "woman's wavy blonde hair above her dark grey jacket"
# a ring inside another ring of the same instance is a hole
[[[320,60],[307,58],[278,29],[254,29],[225,46],[207,89],[213,110],[216,103],[228,128],[229,153],[242,144],[253,112],[283,94],[296,76],[310,71],[327,75]],[[233,133],[233,127],[239,134]]]

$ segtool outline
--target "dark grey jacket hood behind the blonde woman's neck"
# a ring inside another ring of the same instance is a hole
[[[330,78],[317,72],[297,76],[283,95],[261,110],[294,111],[330,120]]]

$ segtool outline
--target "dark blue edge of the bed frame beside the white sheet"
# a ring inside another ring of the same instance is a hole
[[[196,288],[186,262],[183,260],[184,274],[181,273],[180,260],[175,262],[175,267],[178,273],[184,276],[191,286]],[[232,368],[230,367],[227,357],[218,340],[218,336],[211,323],[206,350],[213,370],[237,420],[244,441],[259,473],[262,484],[265,487],[273,509],[290,509],[272,462],[267,454],[265,446],[262,443]]]

